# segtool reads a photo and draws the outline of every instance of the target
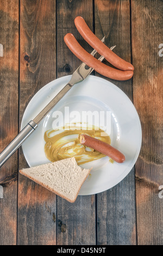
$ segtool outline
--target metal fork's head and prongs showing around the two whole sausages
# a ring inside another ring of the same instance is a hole
[[[105,40],[105,36],[103,37],[103,39],[101,40],[102,42],[104,42]],[[112,46],[110,48],[110,50],[112,51],[114,48],[116,47],[116,45]],[[93,50],[91,52],[92,56],[95,56],[96,54],[96,50]],[[103,56],[100,56],[98,58],[98,60],[100,60],[102,62],[102,60],[104,59]],[[83,80],[85,80],[85,78],[87,76],[89,76],[91,74],[91,72],[93,71],[93,68],[89,68],[84,62],[73,72],[72,77],[70,82],[68,82],[68,84],[70,84],[71,86],[73,86],[74,84],[81,82]]]

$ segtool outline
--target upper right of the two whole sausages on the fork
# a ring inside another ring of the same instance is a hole
[[[99,54],[105,57],[108,62],[110,62],[113,66],[120,70],[134,70],[134,66],[126,60],[118,57],[114,52],[110,50],[86,25],[83,17],[76,17],[74,20],[76,28],[79,33],[83,36],[86,42],[89,43]]]

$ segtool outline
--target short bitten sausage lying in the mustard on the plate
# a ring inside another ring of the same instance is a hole
[[[81,144],[84,144],[87,147],[95,149],[100,153],[109,156],[112,160],[116,161],[117,163],[123,163],[125,161],[125,156],[120,151],[113,148],[108,143],[99,141],[99,139],[93,138],[85,134],[80,134],[79,141]]]

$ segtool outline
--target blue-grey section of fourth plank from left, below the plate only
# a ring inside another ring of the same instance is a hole
[[[136,245],[134,174],[97,194],[98,245]]]

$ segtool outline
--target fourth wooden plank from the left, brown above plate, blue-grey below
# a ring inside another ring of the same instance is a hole
[[[98,38],[105,35],[106,45],[116,45],[114,52],[131,62],[130,1],[96,0],[95,33]],[[116,84],[132,100],[131,80],[107,80]],[[136,244],[134,168],[120,184],[97,194],[97,223],[99,245]]]

